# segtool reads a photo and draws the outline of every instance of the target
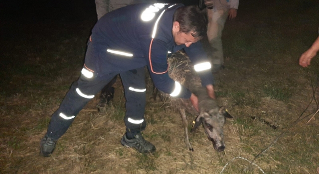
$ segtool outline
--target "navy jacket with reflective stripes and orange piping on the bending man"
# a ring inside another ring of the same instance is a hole
[[[150,5],[128,5],[101,17],[92,29],[90,44],[93,44],[95,56],[90,59],[101,76],[147,66],[155,86],[171,93],[175,82],[168,76],[167,52],[184,49],[193,64],[207,62],[208,59],[200,42],[187,48],[185,45],[177,46],[173,40],[173,13],[182,4],[165,4],[157,12],[144,13]],[[115,51],[127,55],[119,55]],[[203,86],[213,84],[210,70],[198,75]],[[181,91],[176,97],[190,97],[191,93],[185,87]]]

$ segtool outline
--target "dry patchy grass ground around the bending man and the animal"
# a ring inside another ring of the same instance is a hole
[[[226,68],[215,75],[218,102],[234,117],[224,126],[224,152],[213,149],[202,127],[189,133],[194,148],[189,152],[179,113],[169,103],[155,101],[151,85],[143,135],[157,153],[143,155],[123,147],[125,97],[117,81],[112,107],[98,112],[97,94],[59,139],[52,157],[39,157],[39,141],[79,76],[96,20],[94,2],[83,4],[73,6],[73,15],[66,14],[71,7],[42,17],[32,16],[32,10],[14,23],[9,22],[14,15],[3,20],[0,173],[220,174],[228,164],[222,174],[262,174],[236,158],[252,161],[261,152],[254,163],[266,174],[317,173],[318,115],[305,123],[319,105],[319,57],[309,68],[298,65],[299,56],[318,37],[315,0],[240,1],[238,16],[226,22]],[[194,118],[188,115],[188,129]]]

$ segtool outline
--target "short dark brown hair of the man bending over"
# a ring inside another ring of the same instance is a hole
[[[176,9],[173,22],[179,23],[179,30],[183,33],[191,33],[195,38],[203,38],[207,33],[206,10],[200,10],[195,5],[182,6]]]

